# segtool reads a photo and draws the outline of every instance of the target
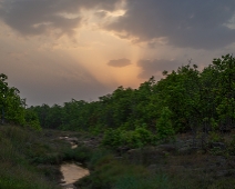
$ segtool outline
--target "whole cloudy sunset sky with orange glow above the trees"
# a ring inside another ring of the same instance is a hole
[[[234,0],[0,0],[0,73],[29,106],[94,101],[234,51]]]

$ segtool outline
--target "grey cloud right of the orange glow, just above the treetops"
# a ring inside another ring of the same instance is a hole
[[[140,60],[137,61],[137,67],[140,67],[142,71],[139,74],[139,78],[146,79],[164,70],[172,71],[182,64],[183,63],[175,60]]]

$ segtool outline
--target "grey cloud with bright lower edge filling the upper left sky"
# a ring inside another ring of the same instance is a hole
[[[71,33],[81,23],[80,10],[113,10],[120,0],[2,0],[0,18],[22,34],[41,34],[51,29]],[[75,18],[61,13],[76,14]]]

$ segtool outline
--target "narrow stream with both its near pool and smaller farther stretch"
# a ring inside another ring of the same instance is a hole
[[[78,147],[76,138],[60,137],[60,139],[70,142],[72,149],[75,149]],[[63,175],[63,179],[61,180],[61,186],[64,189],[75,189],[75,186],[73,183],[78,181],[79,179],[85,176],[89,176],[90,171],[85,168],[82,168],[79,165],[80,165],[79,162],[61,165],[60,171]]]

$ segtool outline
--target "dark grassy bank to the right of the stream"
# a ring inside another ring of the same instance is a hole
[[[235,157],[227,156],[229,148],[224,149],[223,155],[200,149],[190,153],[159,149],[144,147],[120,156],[101,148],[78,148],[73,152],[76,159],[82,155],[91,175],[75,185],[81,189],[235,188]]]

